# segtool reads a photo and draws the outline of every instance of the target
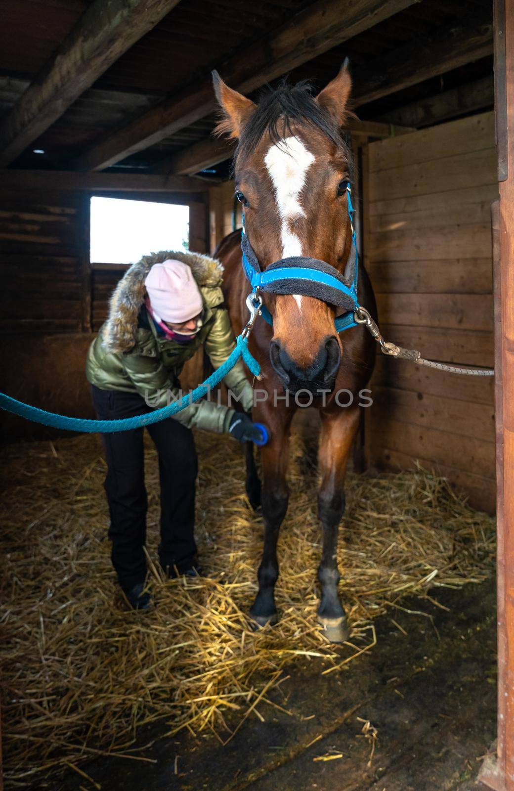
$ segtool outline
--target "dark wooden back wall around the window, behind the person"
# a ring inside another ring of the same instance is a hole
[[[127,268],[91,267],[89,199],[76,191],[0,196],[0,389],[48,411],[85,418],[94,417],[85,356]],[[166,199],[190,202],[191,195]],[[207,231],[206,203],[198,195],[190,202],[191,249],[206,251]],[[201,372],[202,361],[191,361],[183,386],[196,384]],[[0,431],[4,440],[55,434],[6,412],[0,413]]]

